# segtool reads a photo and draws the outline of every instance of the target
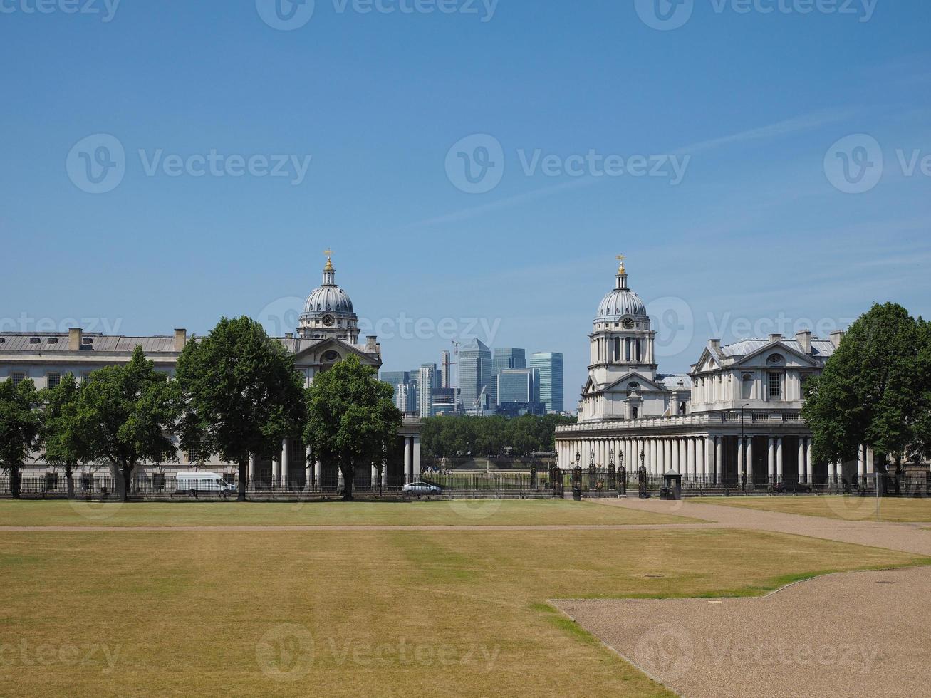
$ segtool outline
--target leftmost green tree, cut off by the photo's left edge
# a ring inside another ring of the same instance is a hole
[[[9,475],[13,499],[20,499],[22,466],[42,442],[41,405],[32,380],[0,381],[0,469]]]

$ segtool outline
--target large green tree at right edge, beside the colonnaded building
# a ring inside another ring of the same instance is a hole
[[[927,341],[924,322],[896,303],[874,304],[850,326],[806,384],[803,417],[816,460],[854,460],[866,444],[898,469],[927,448]]]

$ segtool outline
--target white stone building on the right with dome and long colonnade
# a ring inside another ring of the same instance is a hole
[[[589,335],[579,421],[557,428],[560,467],[623,464],[635,477],[642,464],[653,478],[678,472],[686,489],[852,484],[873,472],[865,447],[851,463],[814,463],[802,419],[804,382],[843,332],[830,340],[808,331],[730,345],[711,340],[685,376],[656,372],[654,336],[622,264]]]

